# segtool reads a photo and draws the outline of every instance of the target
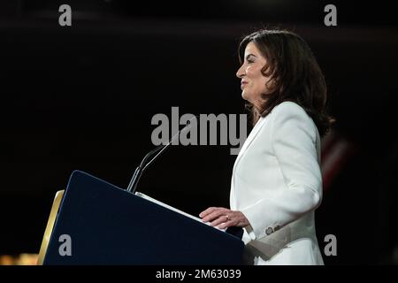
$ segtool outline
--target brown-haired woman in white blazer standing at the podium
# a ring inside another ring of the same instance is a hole
[[[233,165],[230,208],[204,222],[243,227],[249,264],[324,264],[314,210],[322,201],[320,137],[333,119],[310,47],[284,30],[260,30],[239,46],[241,96],[254,127]]]

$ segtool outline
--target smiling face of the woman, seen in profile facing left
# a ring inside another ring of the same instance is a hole
[[[266,59],[256,48],[254,42],[249,42],[245,49],[243,64],[236,76],[241,79],[241,96],[243,99],[259,106],[264,103],[261,95],[267,92],[266,83],[270,80],[261,73],[266,64]]]

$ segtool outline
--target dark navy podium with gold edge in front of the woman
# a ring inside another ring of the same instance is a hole
[[[72,173],[54,207],[44,265],[243,263],[241,239],[85,172]]]

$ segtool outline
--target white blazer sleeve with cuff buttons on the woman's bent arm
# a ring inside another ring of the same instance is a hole
[[[276,197],[259,199],[241,210],[249,219],[246,230],[252,240],[263,238],[315,210],[322,200],[317,127],[295,103],[281,103],[273,111],[272,149],[287,188]]]

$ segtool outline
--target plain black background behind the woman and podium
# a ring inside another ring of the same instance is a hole
[[[70,4],[73,26],[58,25]],[[325,27],[325,4],[337,27]],[[156,113],[244,113],[237,46],[261,27],[310,44],[334,133],[351,153],[317,210],[325,264],[397,264],[394,2],[11,1],[0,3],[0,255],[38,253],[51,203],[79,169],[126,187],[153,148]],[[228,206],[229,146],[176,146],[139,191],[188,213]]]

